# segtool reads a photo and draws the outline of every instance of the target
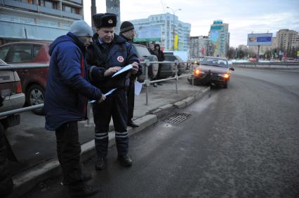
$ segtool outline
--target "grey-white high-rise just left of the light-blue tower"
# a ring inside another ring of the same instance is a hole
[[[208,43],[208,36],[190,36],[190,58],[199,59],[208,55]]]

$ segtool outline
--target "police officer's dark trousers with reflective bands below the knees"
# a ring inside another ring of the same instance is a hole
[[[116,90],[100,104],[93,104],[95,150],[98,157],[106,157],[108,153],[108,132],[111,117],[114,124],[118,155],[126,155],[128,153],[128,132],[126,130],[128,104],[125,89]]]

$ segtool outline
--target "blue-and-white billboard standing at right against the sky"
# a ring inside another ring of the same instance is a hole
[[[248,34],[247,45],[271,45],[272,33]]]

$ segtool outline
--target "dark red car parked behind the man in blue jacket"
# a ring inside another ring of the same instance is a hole
[[[48,48],[51,42],[17,42],[0,46],[0,58],[8,64],[30,65],[48,64]],[[43,104],[48,68],[17,69],[21,79],[28,106]],[[44,108],[35,109],[34,113],[44,114]]]

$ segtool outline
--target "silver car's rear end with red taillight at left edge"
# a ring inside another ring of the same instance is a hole
[[[0,66],[7,66],[6,62],[0,59]],[[16,71],[0,71],[0,91],[4,98],[0,112],[6,112],[22,108],[25,103],[25,94],[22,93],[20,78]],[[6,115],[0,117],[0,127],[7,129],[20,124],[20,115]]]

